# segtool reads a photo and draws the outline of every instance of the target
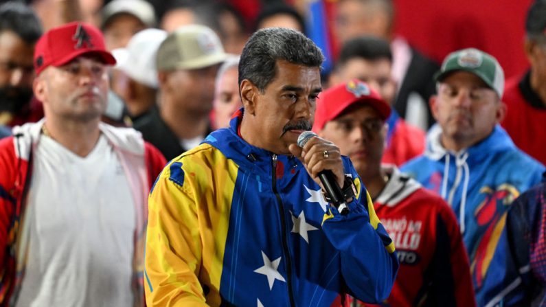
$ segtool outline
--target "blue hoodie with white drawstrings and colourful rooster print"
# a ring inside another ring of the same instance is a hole
[[[433,126],[424,155],[401,170],[438,192],[455,211],[470,258],[476,301],[486,306],[491,298],[484,297],[484,288],[502,270],[499,266],[489,269],[506,210],[521,192],[541,182],[545,168],[516,148],[499,125],[486,139],[459,152],[442,146],[441,133],[438,124]]]

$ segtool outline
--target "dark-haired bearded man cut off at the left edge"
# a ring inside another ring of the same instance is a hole
[[[43,117],[41,103],[32,99],[32,56],[41,35],[41,23],[31,8],[16,1],[0,5],[0,126]]]

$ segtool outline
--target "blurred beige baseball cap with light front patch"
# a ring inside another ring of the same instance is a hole
[[[227,58],[220,38],[205,25],[183,25],[170,33],[157,50],[157,70],[200,69]]]

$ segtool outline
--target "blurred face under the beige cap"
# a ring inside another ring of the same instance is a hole
[[[214,81],[220,65],[201,69],[175,70],[159,74],[165,79],[161,90],[170,95],[181,108],[197,115],[207,115],[212,111],[214,101]]]

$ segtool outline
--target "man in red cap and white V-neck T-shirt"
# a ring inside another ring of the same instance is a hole
[[[0,141],[0,306],[141,306],[148,190],[166,162],[100,122],[115,64],[98,29],[36,43],[45,119]]]

